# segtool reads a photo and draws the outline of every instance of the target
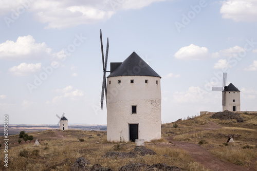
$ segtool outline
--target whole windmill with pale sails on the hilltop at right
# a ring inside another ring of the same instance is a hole
[[[238,90],[232,83],[228,86],[227,73],[223,73],[223,86],[212,87],[212,91],[222,91],[222,107],[224,110],[240,111],[240,90]]]

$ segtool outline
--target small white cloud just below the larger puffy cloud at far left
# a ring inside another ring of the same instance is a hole
[[[19,66],[13,66],[9,71],[15,76],[29,75],[33,72],[37,72],[41,69],[41,63],[27,64],[21,63]]]

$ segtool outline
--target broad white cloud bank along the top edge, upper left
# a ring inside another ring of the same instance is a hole
[[[26,12],[31,12],[35,20],[46,23],[46,28],[68,28],[81,24],[106,21],[117,10],[140,9],[154,2],[166,0],[94,0],[94,1],[32,1]],[[11,18],[11,10],[25,7],[28,0],[4,0],[0,2],[0,15]]]

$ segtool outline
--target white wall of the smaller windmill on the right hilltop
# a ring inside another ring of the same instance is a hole
[[[233,102],[235,100],[235,102]],[[233,106],[236,111],[240,111],[240,92],[238,91],[226,91],[226,105],[223,106],[224,110],[233,111]]]

